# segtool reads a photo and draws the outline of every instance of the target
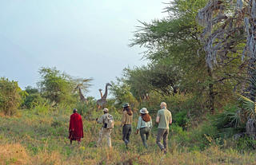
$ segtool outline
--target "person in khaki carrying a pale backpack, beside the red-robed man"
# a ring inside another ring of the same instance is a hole
[[[106,137],[108,147],[112,147],[111,144],[111,132],[112,128],[114,128],[114,118],[109,114],[109,109],[103,109],[104,115],[102,115],[99,120],[96,119],[98,124],[102,124],[102,128],[98,133],[98,142],[97,147],[102,146],[102,139]]]

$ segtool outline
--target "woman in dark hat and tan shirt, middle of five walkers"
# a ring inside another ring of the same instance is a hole
[[[133,112],[130,109],[130,104],[126,103],[122,110],[122,140],[126,143],[126,148],[128,148],[128,143],[130,142],[131,124],[133,122]]]

